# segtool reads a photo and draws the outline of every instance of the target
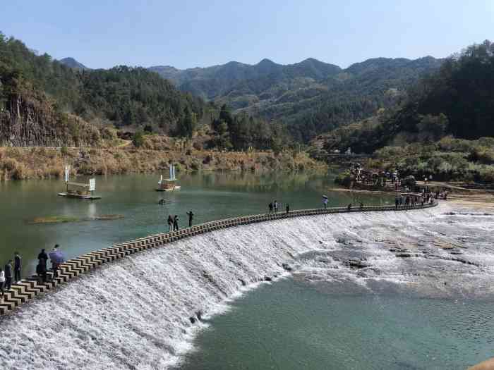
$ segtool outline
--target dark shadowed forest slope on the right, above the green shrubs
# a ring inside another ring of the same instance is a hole
[[[321,135],[327,149],[372,153],[387,144],[434,142],[445,135],[494,137],[494,43],[474,44],[418,81],[402,106]]]

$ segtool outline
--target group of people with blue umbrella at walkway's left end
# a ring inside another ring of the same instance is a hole
[[[60,264],[64,262],[61,252],[59,252],[59,245],[55,245],[50,252],[50,257],[48,257],[45,249],[42,249],[40,254],[38,254],[38,264],[36,266],[36,274],[42,283],[47,282],[47,261],[50,258],[52,262],[52,271],[54,273],[54,278],[58,276],[58,270]],[[5,292],[12,288],[13,283],[20,283],[20,271],[22,269],[22,257],[20,257],[19,252],[14,253],[13,260],[9,259],[5,264],[4,269],[0,267],[0,293],[1,298],[4,297]]]

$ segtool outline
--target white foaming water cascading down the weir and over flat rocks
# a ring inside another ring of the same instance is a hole
[[[494,216],[441,205],[239,226],[135,254],[0,321],[1,369],[167,369],[266,277],[423,295],[492,295]],[[285,264],[283,266],[283,264]],[[191,317],[195,322],[191,322]]]

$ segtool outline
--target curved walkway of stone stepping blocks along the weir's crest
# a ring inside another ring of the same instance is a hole
[[[265,221],[275,221],[284,218],[294,218],[303,216],[316,216],[324,214],[342,214],[342,213],[363,213],[363,212],[382,212],[382,211],[414,211],[418,209],[426,209],[437,206],[438,203],[424,204],[405,207],[400,206],[364,206],[362,208],[348,209],[347,207],[335,207],[327,209],[302,209],[289,211],[289,213],[279,212],[277,214],[258,214],[251,216],[239,216],[227,218],[223,220],[210,221],[191,228],[183,228],[170,233],[159,233],[149,235],[144,238],[138,238],[129,242],[118,243],[103,249],[96,250],[80,257],[69,259],[60,265],[58,276],[54,277],[53,273],[48,273],[48,281],[40,282],[37,276],[32,276],[12,285],[11,290],[5,293],[4,300],[0,301],[0,315],[8,314],[17,307],[34,300],[39,295],[44,295],[47,292],[53,291],[59,285],[64,285],[69,281],[77,278],[83,273],[88,273],[102,264],[122,259],[130,254],[140,252],[146,249],[163,247],[176,240],[190,238],[194,235],[209,233],[214,230],[224,228],[232,228],[234,226],[247,225],[251,223],[260,223]]]

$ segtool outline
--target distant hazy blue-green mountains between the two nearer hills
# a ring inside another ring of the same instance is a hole
[[[404,91],[441,60],[374,58],[349,68],[313,58],[283,66],[267,59],[250,66],[178,70],[151,67],[182,91],[198,94],[235,112],[286,123],[296,140],[307,142],[320,132],[373,115],[404,96]]]

